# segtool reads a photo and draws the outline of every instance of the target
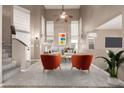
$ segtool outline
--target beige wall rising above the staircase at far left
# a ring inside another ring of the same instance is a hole
[[[2,6],[2,41],[7,45],[11,45],[11,31],[10,26],[13,23],[13,6],[3,5]]]

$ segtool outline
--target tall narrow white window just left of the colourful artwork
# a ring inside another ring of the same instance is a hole
[[[54,21],[46,22],[46,40],[47,42],[53,42],[54,40]]]

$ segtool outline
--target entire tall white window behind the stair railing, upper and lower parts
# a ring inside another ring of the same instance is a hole
[[[14,6],[13,25],[16,29],[16,38],[28,45],[26,60],[31,59],[31,34],[30,34],[30,10],[20,6]]]

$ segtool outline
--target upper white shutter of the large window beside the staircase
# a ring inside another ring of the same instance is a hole
[[[30,31],[30,11],[19,6],[14,6],[13,20],[16,30]]]

